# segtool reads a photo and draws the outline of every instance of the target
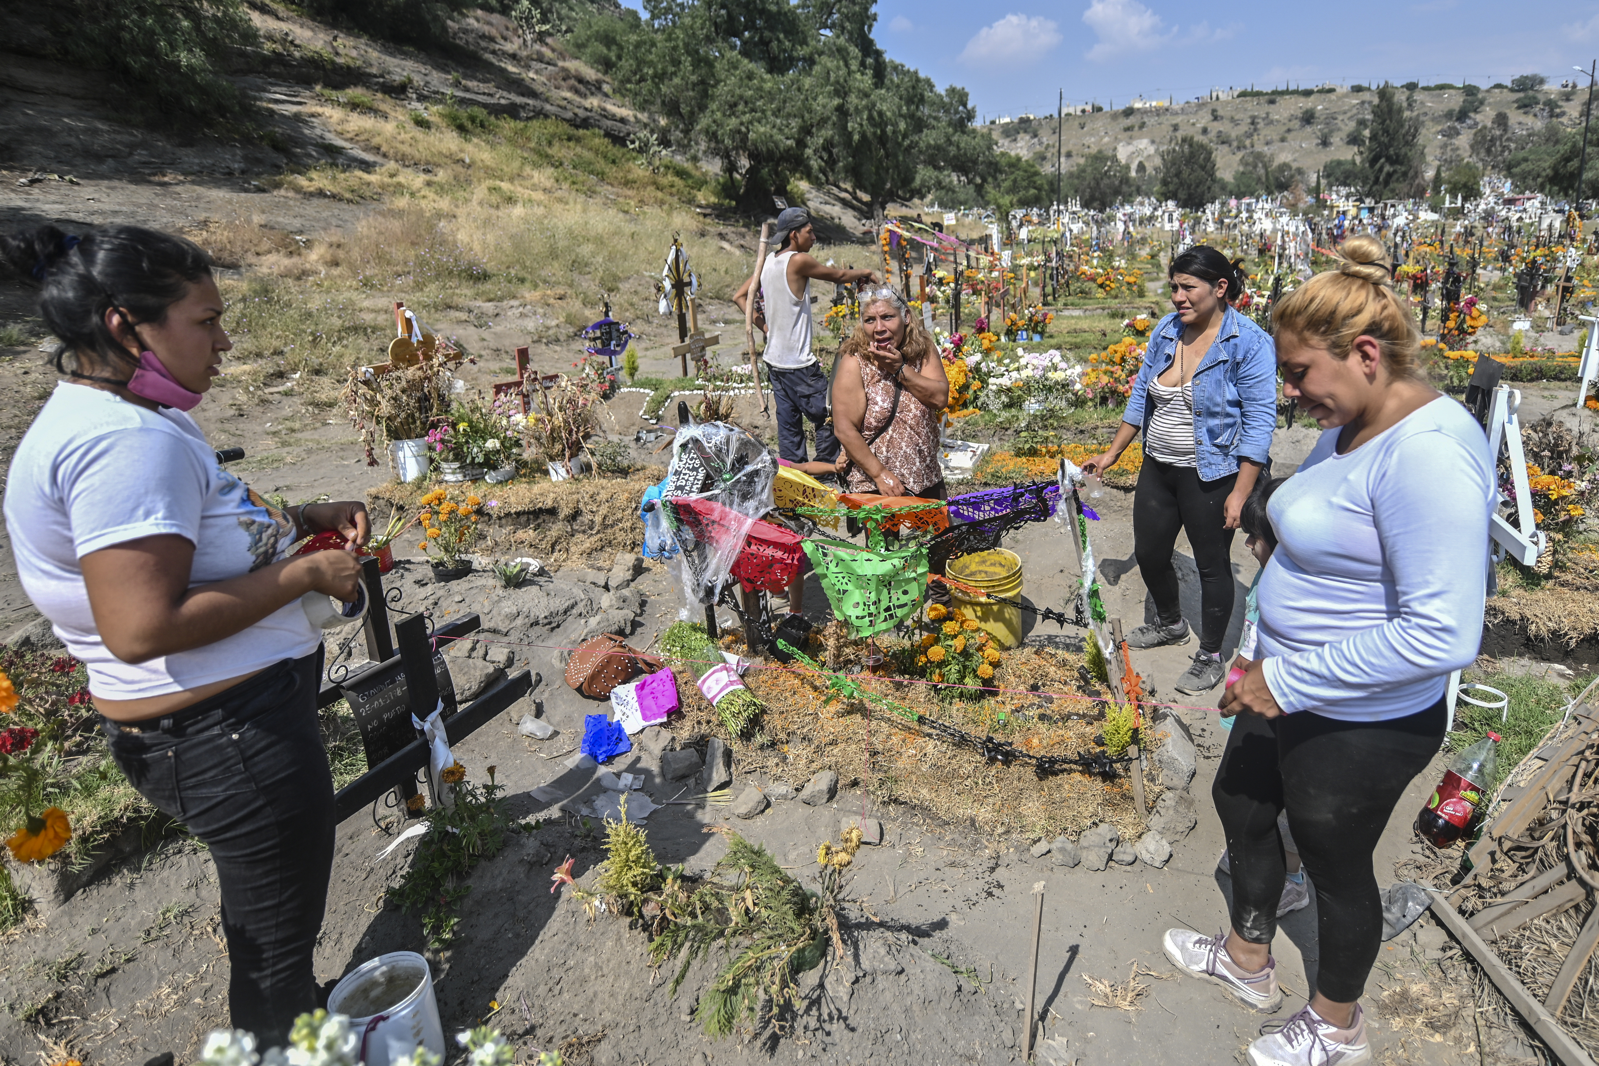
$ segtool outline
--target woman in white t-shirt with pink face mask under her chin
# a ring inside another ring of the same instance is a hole
[[[222,353],[222,297],[190,241],[131,225],[0,237],[42,286],[62,380],[11,460],[18,575],[90,674],[110,751],[205,841],[229,943],[232,1024],[283,1044],[313,1010],[333,869],[333,777],[301,596],[352,601],[361,503],[280,511],[221,470],[185,414]],[[286,558],[305,534],[345,551]]]

